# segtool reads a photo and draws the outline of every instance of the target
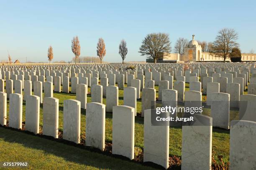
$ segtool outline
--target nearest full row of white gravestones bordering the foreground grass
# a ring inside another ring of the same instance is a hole
[[[167,90],[166,92],[174,92],[177,97],[177,91]],[[3,93],[3,92],[2,92]],[[6,93],[3,93],[6,94]],[[217,94],[217,93],[215,93]],[[218,93],[220,95],[220,93]],[[225,94],[227,95],[227,94]],[[3,95],[6,98],[6,95]],[[228,95],[227,95],[228,96]],[[223,97],[223,96],[222,96]],[[175,98],[175,97],[174,97]],[[167,99],[169,100],[169,99]],[[3,100],[4,101],[4,100]],[[10,95],[10,118],[9,125],[13,128],[21,128],[21,102],[20,94]],[[31,104],[33,103],[33,104]],[[212,103],[213,104],[213,103]],[[33,105],[33,107],[28,107]],[[87,117],[87,135],[86,141],[88,146],[100,148],[104,150],[103,133],[105,130],[105,105],[101,103],[88,103]],[[46,97],[44,100],[44,123],[43,133],[57,138],[58,129],[58,100],[53,97]],[[13,110],[15,112],[13,112]],[[72,108],[72,109],[71,109]],[[228,107],[227,107],[228,108]],[[16,112],[18,110],[18,112]],[[79,121],[80,121],[80,102],[76,100],[64,101],[64,139],[79,143]],[[123,113],[123,114],[120,114]],[[167,114],[167,113],[166,113]],[[113,154],[123,155],[130,159],[134,158],[134,108],[128,106],[113,107]],[[167,116],[167,115],[166,115]],[[196,117],[198,117],[197,115]],[[182,169],[210,169],[211,165],[211,143],[212,143],[212,118],[200,115],[200,124],[193,126],[182,126]],[[73,117],[72,119],[70,117]],[[123,121],[125,120],[128,121]],[[214,118],[213,118],[214,119]],[[204,120],[204,121],[202,121]],[[90,122],[90,123],[89,123]],[[98,123],[96,123],[98,122]],[[208,128],[205,124],[209,124]],[[97,124],[97,126],[93,126]],[[152,126],[151,110],[145,110],[144,117],[144,162],[154,162],[168,168],[168,152],[169,152],[169,127],[168,126]],[[30,95],[26,101],[26,130],[38,133],[39,127],[39,97]],[[72,128],[71,128],[72,127]],[[163,133],[159,133],[159,132]],[[125,132],[125,133],[124,133]],[[251,133],[248,133],[251,132]],[[130,135],[126,135],[130,133]],[[230,167],[246,166],[252,167],[252,160],[243,159],[248,157],[251,147],[255,144],[256,122],[250,121],[232,121],[230,130]],[[125,135],[125,136],[122,136]],[[239,135],[238,135],[239,134]],[[159,136],[160,135],[160,136]],[[241,138],[241,135],[244,135]],[[122,138],[120,138],[122,136]],[[240,140],[241,142],[239,142]],[[253,139],[253,140],[251,140]],[[191,142],[193,140],[194,142]],[[97,141],[92,143],[92,141]],[[156,145],[159,143],[159,145]],[[161,145],[160,145],[161,143]],[[163,145],[165,143],[165,145]],[[197,145],[195,145],[195,143]],[[200,143],[200,147],[198,147]],[[246,145],[242,145],[244,143]],[[240,147],[237,147],[239,144]],[[158,147],[156,147],[158,146]],[[239,153],[239,154],[238,154]],[[246,155],[241,155],[242,153]],[[250,152],[251,155],[255,153]],[[193,155],[193,156],[192,156]],[[200,160],[198,162],[198,160]],[[237,161],[239,160],[239,165]],[[195,161],[197,163],[195,163]]]

